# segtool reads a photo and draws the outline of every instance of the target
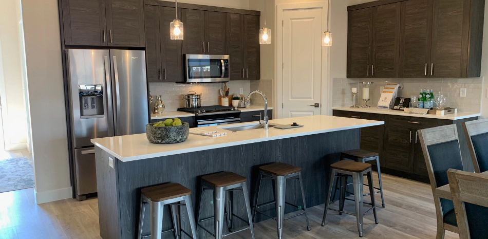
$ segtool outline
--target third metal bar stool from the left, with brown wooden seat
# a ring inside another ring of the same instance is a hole
[[[275,183],[275,200],[270,201],[264,204],[257,204],[259,199],[259,189],[261,188],[261,181],[262,179],[271,179],[274,180]],[[286,181],[287,179],[290,180],[298,180],[300,182],[300,188],[302,190],[302,199],[303,199],[303,209],[296,205],[287,203],[285,201],[285,192],[286,192]],[[276,205],[276,215],[277,217],[272,217],[266,213],[259,211],[259,208],[265,207],[271,204]],[[297,215],[293,215],[291,217],[285,218],[285,204],[298,208],[299,210],[303,210],[302,213]],[[256,201],[254,203],[254,214],[253,214],[253,222],[256,216],[256,212],[262,215],[265,215],[269,218],[276,220],[278,226],[278,238],[281,239],[283,235],[283,222],[295,216],[299,216],[305,214],[305,219],[307,221],[307,230],[310,231],[310,224],[308,223],[308,216],[307,216],[307,206],[305,204],[305,193],[303,189],[303,182],[302,182],[302,168],[298,168],[295,166],[291,166],[290,164],[286,163],[272,163],[265,166],[259,167],[259,186],[257,188],[257,195]]]

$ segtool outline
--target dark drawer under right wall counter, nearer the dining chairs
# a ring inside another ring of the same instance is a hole
[[[398,127],[415,127],[417,130],[452,124],[452,120],[429,119],[408,116],[389,116],[388,124]]]

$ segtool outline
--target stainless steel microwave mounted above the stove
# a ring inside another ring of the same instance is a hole
[[[186,83],[228,82],[229,55],[185,54]]]

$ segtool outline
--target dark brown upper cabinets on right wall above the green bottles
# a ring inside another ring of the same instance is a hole
[[[384,8],[383,13],[376,11],[373,13],[374,33],[371,50],[375,53],[369,60],[373,62],[372,77],[480,77],[484,2],[483,0],[390,0],[354,5],[348,7],[349,28],[357,29],[357,24],[361,20],[366,21],[367,9]],[[396,19],[393,19],[392,12],[386,9],[393,4],[397,5]],[[400,14],[398,14],[398,4],[401,5]],[[383,19],[380,21],[388,24],[383,27],[385,31],[380,31],[382,34],[380,38],[384,46],[387,46],[385,50],[388,52],[379,54],[376,53],[379,47],[377,19]],[[397,44],[398,40],[393,39],[388,32],[391,32],[391,27],[398,23],[400,23],[400,42]],[[364,48],[365,43],[361,43],[358,39],[351,39],[361,37],[359,33],[351,34],[351,29],[349,33],[348,77],[364,78],[364,75],[358,72],[360,65],[365,63],[365,53],[354,51],[358,48],[358,44],[362,44]],[[392,61],[392,46],[395,46],[395,50],[399,52],[398,60],[395,61]],[[391,62],[394,62],[393,65]],[[392,71],[397,72],[395,76],[392,76]]]

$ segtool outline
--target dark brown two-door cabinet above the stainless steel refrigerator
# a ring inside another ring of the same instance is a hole
[[[62,0],[65,45],[144,47],[143,0]]]

